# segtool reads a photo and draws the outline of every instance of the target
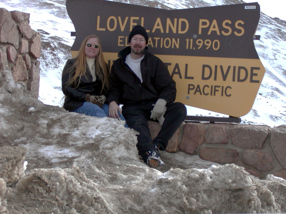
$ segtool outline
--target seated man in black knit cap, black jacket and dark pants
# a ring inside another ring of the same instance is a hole
[[[146,30],[135,26],[129,35],[130,46],[119,52],[110,73],[109,116],[119,118],[119,104],[128,127],[138,135],[139,156],[152,168],[164,165],[159,148],[168,141],[186,116],[184,104],[176,102],[176,83],[165,64],[148,53]],[[160,122],[161,131],[152,141],[148,120]]]

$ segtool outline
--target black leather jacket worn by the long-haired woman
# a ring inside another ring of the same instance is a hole
[[[86,64],[86,75],[82,76],[81,79],[78,77],[76,80],[76,85],[80,81],[79,86],[75,88],[73,84],[67,85],[69,78],[74,75],[75,69],[70,70],[69,72],[67,71],[72,67],[75,61],[76,58],[67,60],[63,68],[63,76],[61,78],[61,88],[63,94],[65,95],[63,108],[70,112],[82,106],[82,104],[85,102],[86,94],[104,95],[106,97],[108,96],[107,90],[103,90],[102,93],[100,93],[102,88],[102,81],[97,75],[96,81],[92,82],[92,74],[90,73],[88,64]]]

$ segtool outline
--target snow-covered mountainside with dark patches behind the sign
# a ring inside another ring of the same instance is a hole
[[[188,0],[188,1],[120,1],[163,9],[182,9],[244,3],[241,0]],[[61,70],[68,58],[74,37],[74,26],[67,15],[65,0],[0,0],[0,7],[8,11],[30,13],[32,29],[42,35],[40,58],[39,100],[61,106]],[[262,11],[263,12],[263,11]],[[249,114],[242,117],[247,124],[266,124],[271,127],[286,123],[286,22],[261,13],[256,32],[260,41],[254,41],[257,52],[266,68],[259,93]],[[188,107],[188,115],[225,116],[215,112]]]

